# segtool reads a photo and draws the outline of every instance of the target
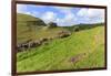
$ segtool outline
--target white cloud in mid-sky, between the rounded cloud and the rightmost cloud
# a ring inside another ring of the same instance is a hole
[[[72,12],[73,8],[68,8],[68,7],[56,7],[56,9],[58,9],[61,13],[64,14],[64,17],[62,19],[58,18],[57,19],[57,23],[58,25],[61,26],[67,26],[67,25],[73,25],[77,24],[75,20],[75,14],[74,12]]]

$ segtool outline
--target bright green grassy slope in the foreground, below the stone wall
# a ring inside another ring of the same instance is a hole
[[[17,69],[30,72],[103,67],[103,29],[97,26],[75,32],[69,37],[53,40],[48,45],[18,53]],[[78,62],[70,62],[78,55]]]

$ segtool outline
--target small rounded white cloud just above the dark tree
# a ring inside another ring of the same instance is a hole
[[[52,11],[48,11],[46,13],[43,13],[43,15],[41,17],[41,19],[46,22],[54,22],[57,19],[57,13],[52,12]]]

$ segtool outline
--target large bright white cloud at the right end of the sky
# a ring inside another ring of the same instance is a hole
[[[104,10],[103,9],[81,9],[78,13],[85,23],[98,23],[104,22]],[[87,22],[88,21],[88,22]]]

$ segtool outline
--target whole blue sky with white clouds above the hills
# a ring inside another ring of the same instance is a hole
[[[60,26],[104,22],[103,9],[17,4],[17,12],[40,18],[46,23],[56,22]]]

